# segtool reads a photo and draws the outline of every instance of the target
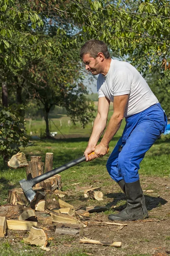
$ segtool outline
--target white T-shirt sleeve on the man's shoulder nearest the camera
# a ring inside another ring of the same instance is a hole
[[[113,96],[120,96],[130,94],[132,84],[132,73],[126,67],[115,70],[115,77],[113,81]]]

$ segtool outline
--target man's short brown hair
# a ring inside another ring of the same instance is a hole
[[[85,54],[89,54],[91,57],[97,58],[99,52],[102,52],[106,59],[110,58],[107,45],[103,41],[91,39],[83,44],[80,57],[83,58]]]

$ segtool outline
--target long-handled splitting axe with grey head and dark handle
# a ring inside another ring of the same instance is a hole
[[[109,151],[109,148],[108,148],[108,151]],[[107,151],[107,154],[108,154],[108,151]],[[91,154],[94,154],[94,152],[92,152]],[[91,154],[89,154],[89,155],[91,155]],[[32,187],[35,184],[40,183],[56,174],[63,172],[65,170],[71,168],[72,166],[75,166],[78,163],[82,163],[84,161],[85,161],[85,156],[82,156],[82,157],[79,157],[79,158],[69,162],[69,163],[59,166],[49,172],[45,172],[44,174],[37,176],[31,180],[26,180],[26,179],[20,180],[20,186],[23,189],[24,195],[26,196],[27,200],[31,202],[34,199],[36,192],[32,189]]]

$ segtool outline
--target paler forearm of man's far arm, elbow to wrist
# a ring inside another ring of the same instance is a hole
[[[88,146],[94,148],[106,127],[107,119],[96,116]]]

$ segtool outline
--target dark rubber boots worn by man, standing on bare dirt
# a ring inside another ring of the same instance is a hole
[[[121,183],[120,183],[121,182]],[[122,180],[119,182],[119,186],[125,192],[127,197],[127,207],[117,214],[110,214],[109,220],[113,221],[134,221],[144,219],[148,217],[148,213],[145,204],[142,206],[143,192],[140,186],[139,180],[133,183],[123,184]],[[145,207],[144,207],[145,206]],[[145,209],[145,213],[144,210]]]

